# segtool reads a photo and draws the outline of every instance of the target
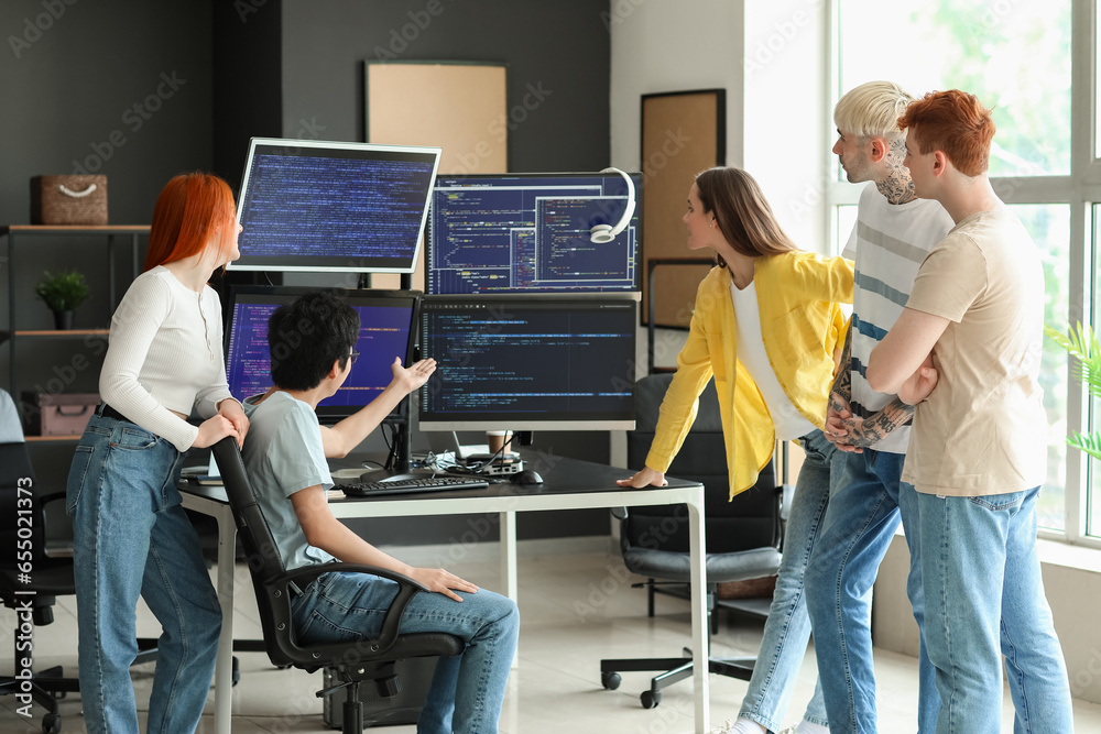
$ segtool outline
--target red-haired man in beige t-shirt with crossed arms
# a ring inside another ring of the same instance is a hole
[[[994,121],[974,95],[929,92],[898,125],[915,194],[956,222],[865,372],[917,406],[903,479],[917,490],[936,731],[999,734],[1004,662],[1013,731],[1065,734],[1070,686],[1036,556],[1044,269],[990,185]]]

